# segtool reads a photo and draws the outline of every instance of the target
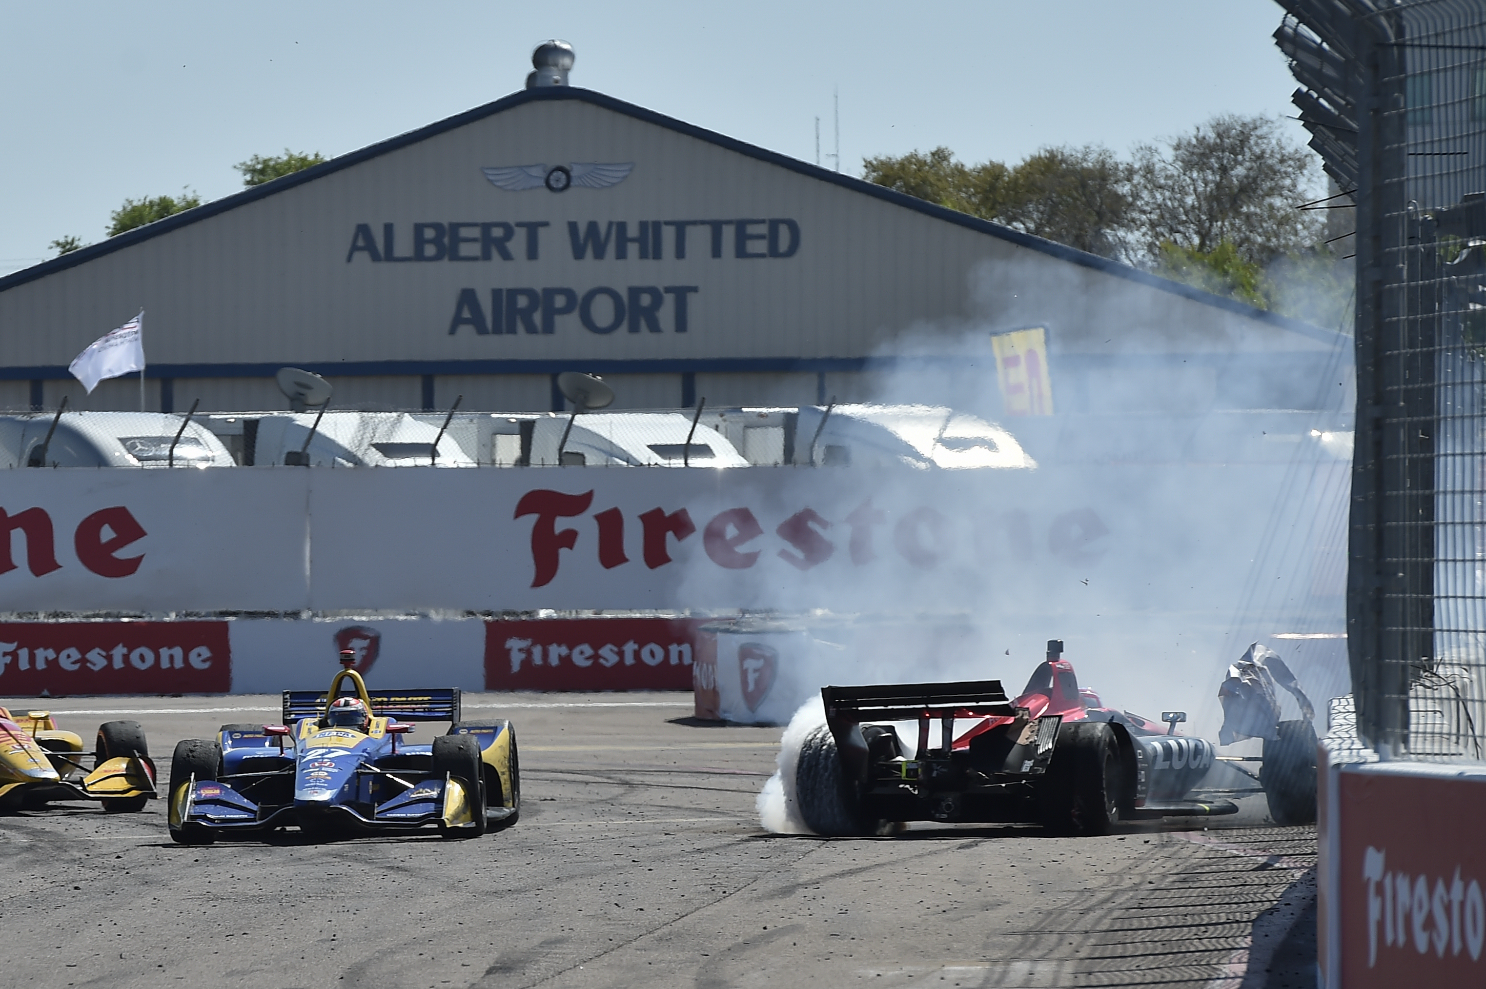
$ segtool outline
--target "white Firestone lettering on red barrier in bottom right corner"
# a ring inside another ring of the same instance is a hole
[[[1461,875],[1410,876],[1388,870],[1388,849],[1367,846],[1363,855],[1367,884],[1367,967],[1378,964],[1378,934],[1383,947],[1428,955],[1470,953],[1480,961],[1486,946],[1486,898],[1480,882]]]

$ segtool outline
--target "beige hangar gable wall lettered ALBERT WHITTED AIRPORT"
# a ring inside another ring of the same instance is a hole
[[[633,168],[560,193],[481,171],[538,162]],[[1028,325],[1049,331],[1060,411],[1296,408],[1337,350],[1336,334],[575,88],[0,278],[0,407],[137,408],[137,382],[88,396],[67,364],[141,306],[162,411],[281,407],[285,364],[331,377],[337,407],[560,408],[569,368],[612,377],[617,407],[860,401],[895,342],[963,367],[950,337]],[[1167,383],[1110,389],[1153,365]]]

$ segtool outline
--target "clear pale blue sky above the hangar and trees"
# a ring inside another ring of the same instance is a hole
[[[0,273],[103,239],[125,198],[215,199],[254,153],[342,154],[514,92],[545,37],[577,49],[577,86],[804,160],[817,116],[834,150],[840,91],[860,174],[1294,113],[1279,19],[1272,0],[0,0]]]

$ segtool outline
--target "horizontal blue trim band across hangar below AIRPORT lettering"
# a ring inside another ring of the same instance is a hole
[[[1274,355],[1250,353],[1058,353],[1060,367],[1083,370],[1169,367],[1174,361],[1202,367],[1238,367],[1263,361],[1269,367]],[[1291,355],[1299,362],[1326,362],[1331,355],[1324,350],[1300,350]],[[987,364],[991,355],[984,355]],[[585,359],[585,358],[476,358],[468,361],[306,361],[297,364],[306,371],[327,377],[382,377],[418,374],[559,374],[562,371],[588,371],[593,374],[820,374],[843,371],[874,371],[905,365],[964,367],[973,358],[964,355],[905,355],[905,356],[854,356],[854,358],[635,358],[635,359]],[[152,364],[146,371],[150,379],[177,377],[273,377],[282,364]],[[56,365],[0,367],[0,382],[67,380],[71,373]]]

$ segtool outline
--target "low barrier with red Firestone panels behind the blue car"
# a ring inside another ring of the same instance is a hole
[[[235,619],[0,624],[0,696],[318,689],[354,649],[373,685],[685,691],[698,622]]]

